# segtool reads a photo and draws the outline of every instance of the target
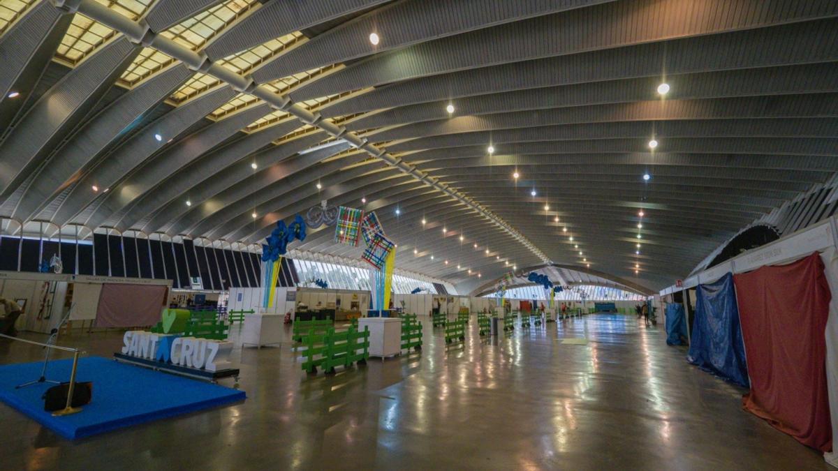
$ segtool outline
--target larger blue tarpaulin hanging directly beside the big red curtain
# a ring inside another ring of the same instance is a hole
[[[687,360],[702,370],[747,387],[745,344],[733,275],[727,273],[715,283],[698,285],[696,298],[696,320]]]

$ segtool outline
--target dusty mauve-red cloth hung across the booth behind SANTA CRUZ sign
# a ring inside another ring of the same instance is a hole
[[[160,320],[166,287],[155,285],[102,285],[96,327],[146,327]]]

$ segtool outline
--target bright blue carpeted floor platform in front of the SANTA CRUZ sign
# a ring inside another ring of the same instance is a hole
[[[79,360],[78,381],[93,381],[93,401],[69,416],[44,411],[52,384],[14,389],[40,376],[41,362],[0,366],[0,401],[70,440],[209,407],[244,401],[244,391],[92,356]],[[70,380],[72,360],[49,362],[47,379]]]

